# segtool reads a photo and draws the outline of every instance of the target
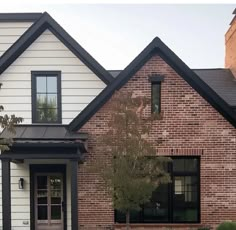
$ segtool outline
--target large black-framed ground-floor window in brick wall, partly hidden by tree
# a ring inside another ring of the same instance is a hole
[[[199,223],[199,158],[173,157],[168,164],[170,184],[159,186],[140,212],[132,212],[131,223]],[[125,215],[115,211],[115,221],[125,223]]]

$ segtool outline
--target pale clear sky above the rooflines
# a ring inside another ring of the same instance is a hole
[[[232,3],[3,2],[0,13],[47,11],[108,70],[125,68],[156,36],[190,68],[223,68],[224,35],[236,8]]]

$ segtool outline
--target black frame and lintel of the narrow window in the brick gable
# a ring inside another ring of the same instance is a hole
[[[161,83],[164,81],[164,76],[162,75],[151,75],[149,76],[149,82],[151,82],[151,113],[152,114],[160,114],[161,113]],[[159,105],[158,105],[158,112],[154,110],[154,101],[153,101],[153,91],[154,86],[159,86],[158,98],[159,98]]]

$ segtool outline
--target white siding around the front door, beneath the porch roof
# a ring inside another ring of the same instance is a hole
[[[11,213],[12,230],[30,230],[30,164],[66,164],[67,230],[71,230],[71,173],[70,163],[64,160],[26,160],[24,164],[11,163]],[[2,163],[0,161],[0,186],[2,188]],[[24,178],[24,189],[18,181]],[[0,229],[2,230],[2,191],[0,189]]]

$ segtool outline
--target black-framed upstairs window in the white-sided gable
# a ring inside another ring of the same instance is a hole
[[[32,122],[61,123],[60,72],[32,72]]]

